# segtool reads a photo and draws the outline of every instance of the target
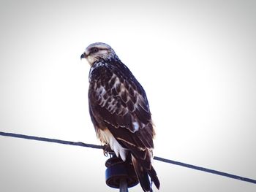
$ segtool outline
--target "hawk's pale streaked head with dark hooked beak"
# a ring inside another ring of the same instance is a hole
[[[92,66],[96,61],[117,58],[117,56],[109,45],[103,42],[96,42],[86,47],[86,51],[80,58],[86,58],[90,66]]]

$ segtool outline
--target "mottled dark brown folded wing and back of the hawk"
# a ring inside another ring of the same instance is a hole
[[[124,64],[94,64],[90,72],[89,107],[94,126],[108,127],[113,136],[146,157],[154,147],[154,128],[143,87]]]

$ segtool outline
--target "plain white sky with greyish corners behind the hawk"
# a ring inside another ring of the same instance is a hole
[[[99,144],[80,54],[106,42],[146,90],[155,155],[256,179],[255,18],[255,1],[1,1],[0,131]],[[118,191],[102,150],[0,137],[0,151],[2,192]],[[256,191],[154,166],[161,191]]]

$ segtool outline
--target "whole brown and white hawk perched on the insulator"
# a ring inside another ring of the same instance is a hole
[[[151,165],[155,132],[143,87],[105,43],[89,45],[80,58],[91,66],[89,112],[98,139],[123,161],[132,158],[143,191],[152,191],[151,182],[159,189]]]

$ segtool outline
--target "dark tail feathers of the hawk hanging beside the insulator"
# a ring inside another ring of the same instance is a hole
[[[145,192],[153,192],[151,187],[151,182],[156,185],[156,187],[159,189],[160,183],[157,177],[157,173],[154,170],[153,166],[151,166],[151,169],[146,169],[142,166],[141,162],[138,161],[133,155],[132,155],[132,164],[135,168],[135,172],[138,176],[138,180],[140,181],[140,185],[143,188],[143,191]],[[148,178],[148,175],[151,177],[151,182]]]

